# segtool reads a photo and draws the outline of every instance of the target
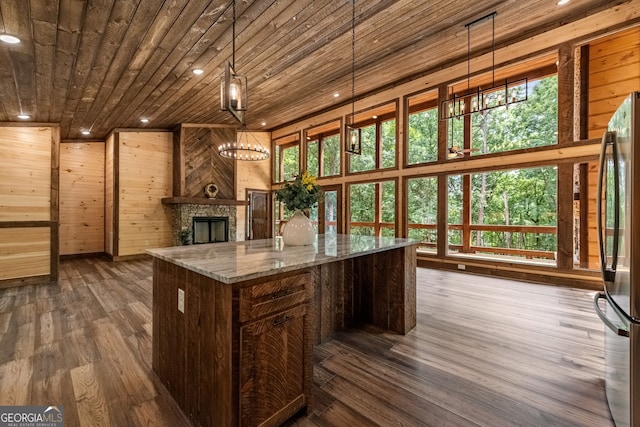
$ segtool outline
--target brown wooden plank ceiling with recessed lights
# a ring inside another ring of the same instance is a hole
[[[356,96],[466,61],[465,24],[487,13],[497,12],[499,48],[625,3],[356,0]],[[220,76],[232,57],[230,4],[0,0],[0,33],[22,39],[0,43],[0,122],[30,114],[33,122],[59,123],[63,139],[86,138],[83,129],[105,138],[114,128],[235,123],[219,111]],[[236,7],[235,64],[249,82],[250,129],[350,102],[350,0],[238,0]],[[474,33],[472,55],[490,40],[490,30]]]

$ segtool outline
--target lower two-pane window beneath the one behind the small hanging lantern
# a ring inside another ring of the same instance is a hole
[[[349,186],[349,234],[396,235],[396,182]]]

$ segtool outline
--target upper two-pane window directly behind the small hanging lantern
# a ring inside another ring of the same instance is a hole
[[[361,130],[362,152],[348,156],[349,173],[394,168],[397,164],[397,103],[393,102],[356,114]],[[351,117],[347,117],[351,122]]]

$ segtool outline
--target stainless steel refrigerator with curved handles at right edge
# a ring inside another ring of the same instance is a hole
[[[605,385],[617,427],[640,426],[640,92],[629,95],[602,140],[598,235],[604,292]]]

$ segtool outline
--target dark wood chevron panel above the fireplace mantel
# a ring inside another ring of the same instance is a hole
[[[204,187],[214,183],[218,199],[235,199],[235,161],[218,155],[218,146],[235,140],[231,127],[184,127],[181,141],[185,166],[184,193],[179,197],[204,197]],[[174,176],[174,180],[181,177]]]

